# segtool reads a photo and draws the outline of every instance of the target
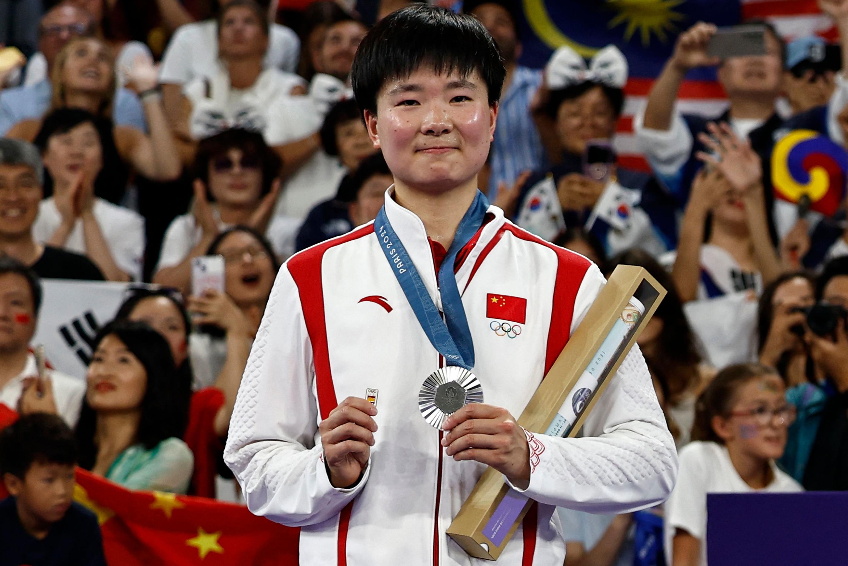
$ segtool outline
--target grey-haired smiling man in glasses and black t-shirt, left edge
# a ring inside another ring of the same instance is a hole
[[[34,145],[0,138],[0,255],[30,266],[39,277],[103,279],[85,255],[38,244],[32,237],[43,177],[42,158]]]

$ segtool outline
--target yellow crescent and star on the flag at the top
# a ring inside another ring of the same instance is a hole
[[[667,42],[668,32],[678,31],[678,26],[674,25],[674,22],[684,19],[683,14],[673,10],[683,2],[685,0],[606,0],[606,5],[617,12],[607,23],[607,27],[612,29],[617,25],[626,25],[625,42],[630,41],[633,34],[639,31],[639,37],[645,47],[650,44],[651,36],[656,36],[664,43]],[[574,49],[581,57],[589,59],[604,47],[583,45],[566,36],[554,20],[551,20],[545,0],[522,0],[522,3],[527,23],[549,48],[555,49],[566,45]]]

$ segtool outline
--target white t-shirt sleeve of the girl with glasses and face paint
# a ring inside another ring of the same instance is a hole
[[[680,473],[678,483],[664,507],[667,529],[683,529],[696,539],[706,533],[706,485],[707,472],[705,446],[700,442],[689,444],[680,451]]]

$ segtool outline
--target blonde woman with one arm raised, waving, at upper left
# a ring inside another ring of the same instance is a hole
[[[162,109],[156,70],[139,60],[129,74],[130,86],[140,92],[150,135],[131,126],[114,126],[114,143],[121,160],[155,181],[179,177],[181,164],[176,144]],[[53,65],[51,109],[86,109],[93,115],[112,119],[115,76],[109,46],[93,37],[68,42]],[[114,121],[114,120],[113,120]],[[32,141],[42,127],[42,118],[24,120],[8,131],[8,137]]]

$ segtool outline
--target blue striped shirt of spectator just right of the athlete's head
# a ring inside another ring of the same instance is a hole
[[[489,155],[492,172],[488,193],[493,199],[500,182],[510,185],[522,171],[544,169],[542,138],[530,114],[530,103],[541,84],[541,70],[516,66],[510,87],[500,97],[498,126],[494,130],[494,143]]]

